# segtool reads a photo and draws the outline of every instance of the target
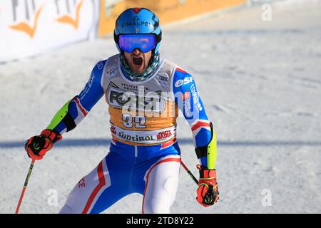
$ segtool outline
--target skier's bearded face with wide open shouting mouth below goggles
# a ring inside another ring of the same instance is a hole
[[[151,51],[142,52],[136,48],[131,53],[125,52],[125,58],[134,73],[143,73],[151,59]]]

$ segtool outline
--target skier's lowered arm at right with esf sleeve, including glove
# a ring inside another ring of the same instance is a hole
[[[196,200],[204,207],[208,207],[219,199],[215,170],[217,154],[215,131],[205,113],[193,77],[180,68],[175,70],[173,76],[173,92],[175,103],[193,132],[195,152],[200,160]]]

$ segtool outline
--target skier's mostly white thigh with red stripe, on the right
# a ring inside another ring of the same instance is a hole
[[[180,157],[170,156],[156,162],[146,173],[146,190],[143,198],[143,213],[170,213],[175,200],[180,171]]]

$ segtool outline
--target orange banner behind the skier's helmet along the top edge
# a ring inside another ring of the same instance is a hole
[[[100,0],[98,36],[113,33],[121,12],[131,7],[151,9],[166,24],[230,6],[245,4],[245,0]]]

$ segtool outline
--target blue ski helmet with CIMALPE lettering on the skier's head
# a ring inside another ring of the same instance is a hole
[[[146,8],[126,9],[116,19],[113,38],[120,53],[123,53],[123,50],[119,47],[119,36],[123,34],[155,34],[156,47],[153,48],[152,53],[157,53],[161,45],[162,31],[159,19]]]

